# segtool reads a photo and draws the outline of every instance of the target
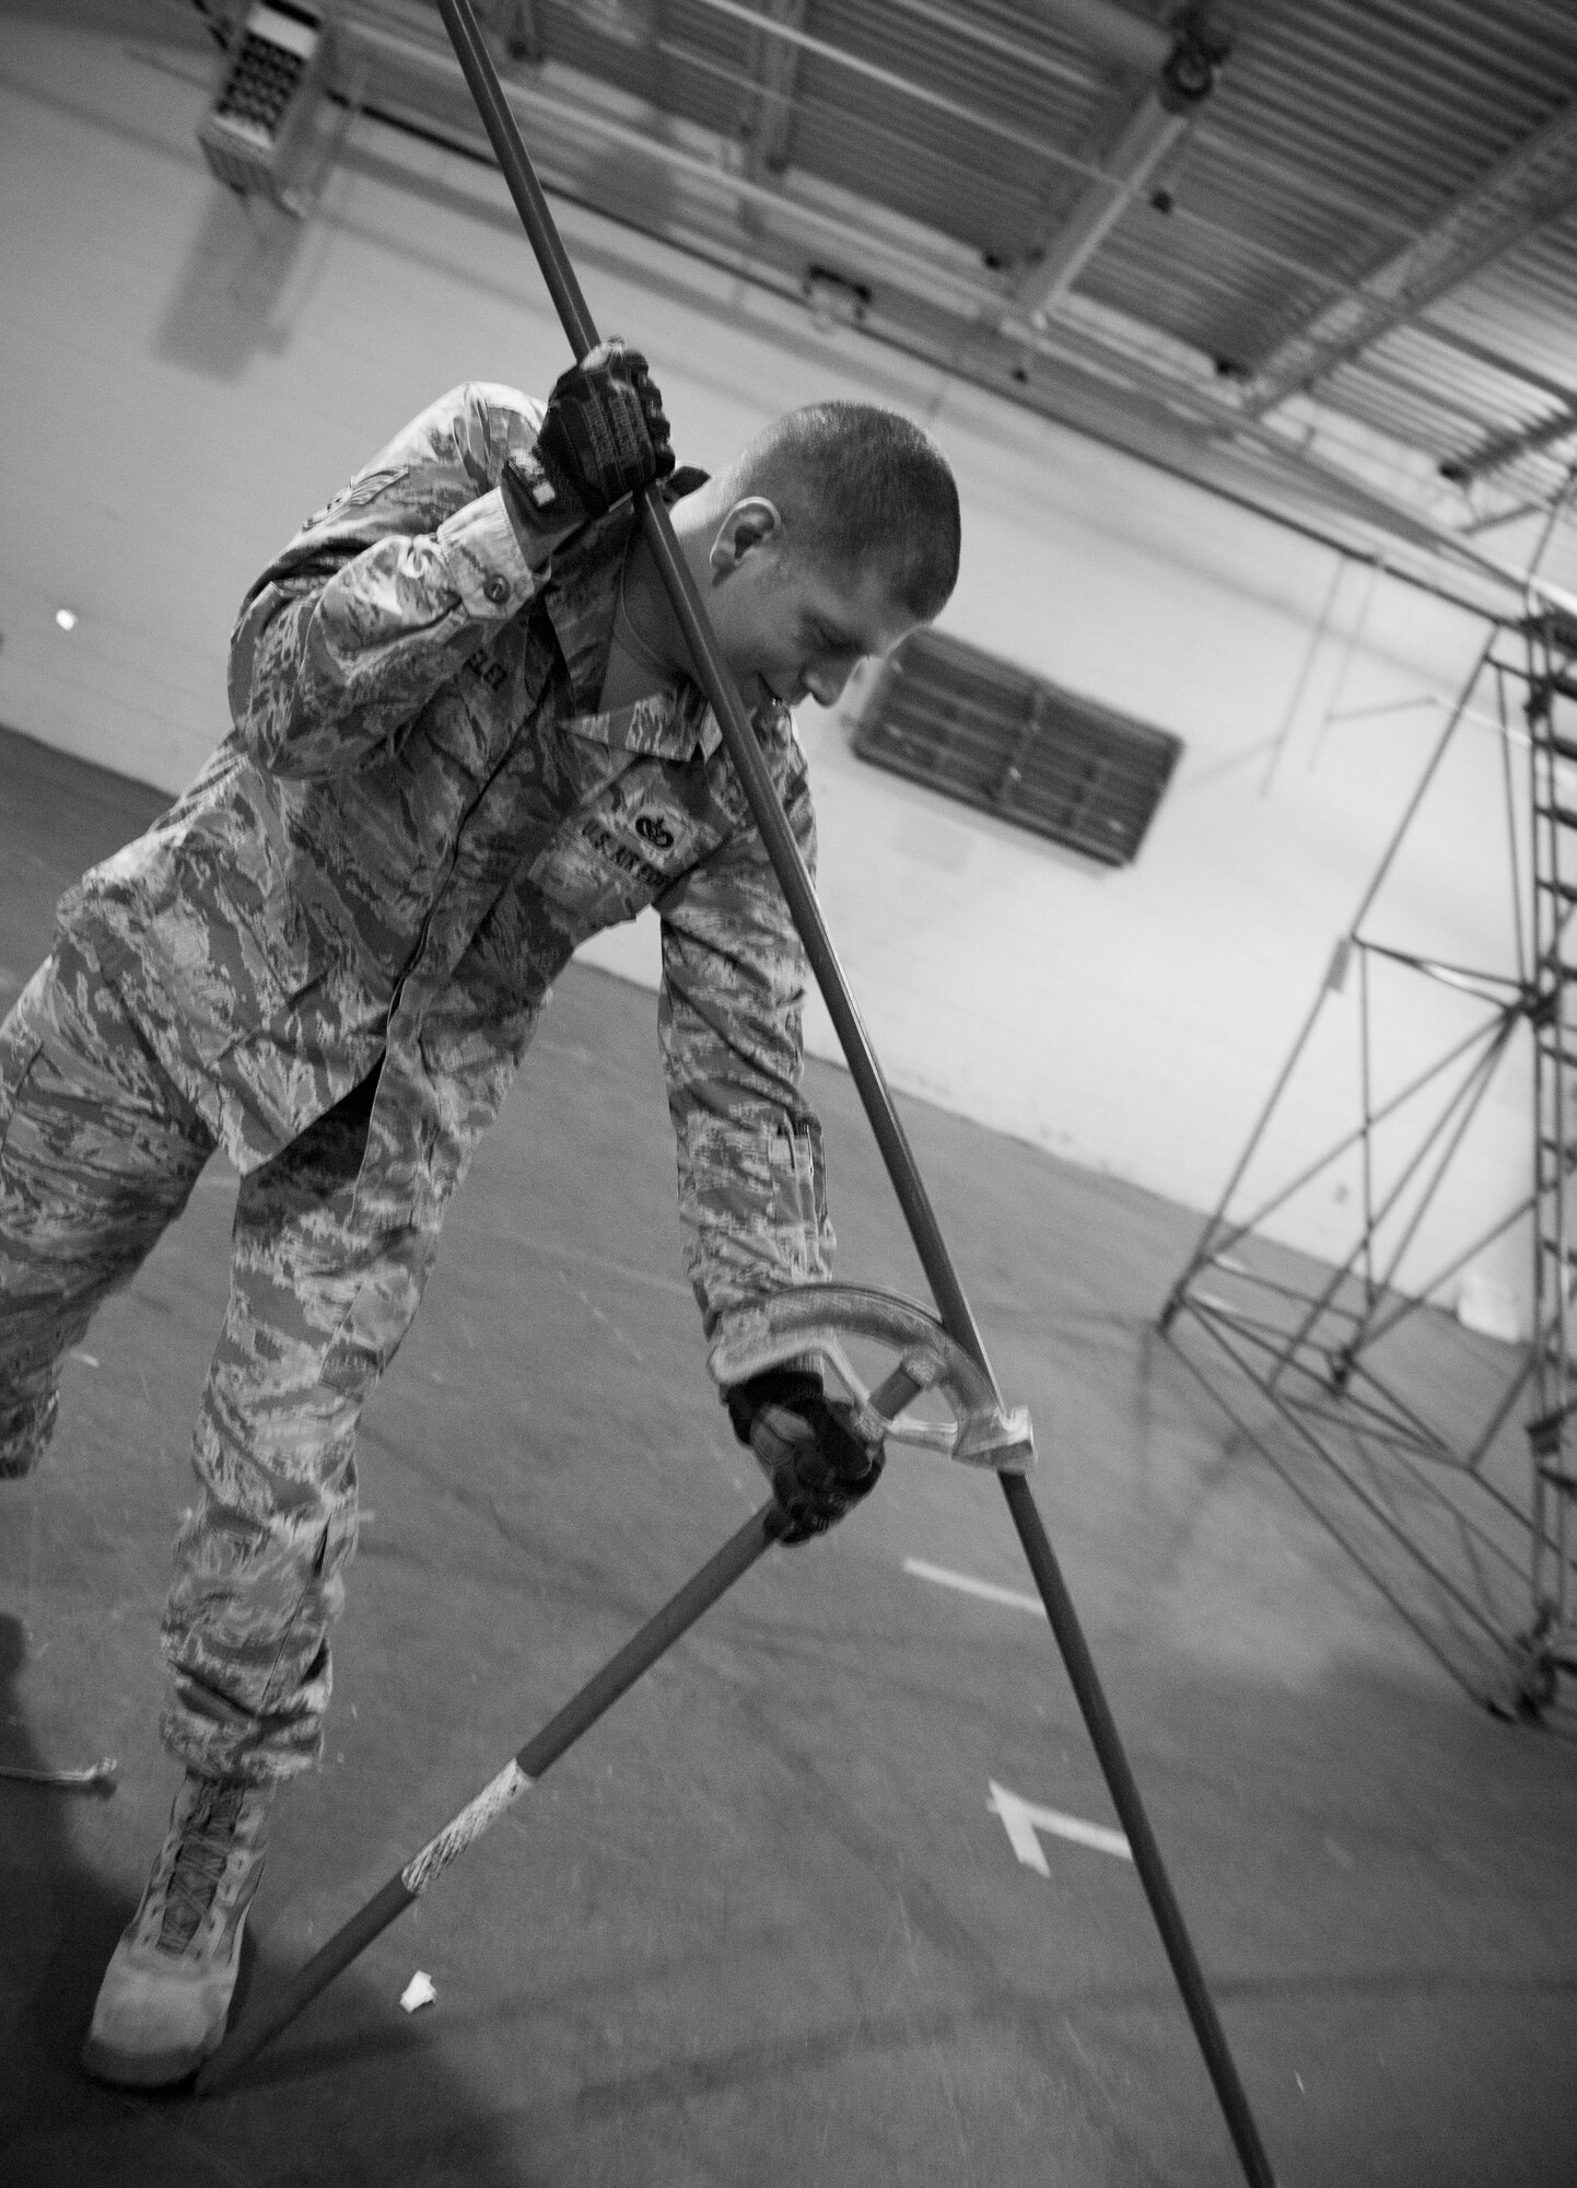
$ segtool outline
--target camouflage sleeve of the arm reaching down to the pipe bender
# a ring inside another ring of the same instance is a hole
[[[803,775],[785,810],[814,871]],[[822,1131],[803,1096],[807,965],[752,827],[691,869],[658,908],[658,1028],[685,1267],[711,1337],[731,1308],[831,1273]]]

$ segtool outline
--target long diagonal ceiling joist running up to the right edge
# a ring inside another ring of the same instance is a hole
[[[1446,206],[1415,243],[1387,258],[1354,293],[1325,304],[1290,335],[1255,372],[1242,416],[1264,418],[1391,328],[1420,319],[1428,304],[1503,258],[1573,201],[1577,101]]]

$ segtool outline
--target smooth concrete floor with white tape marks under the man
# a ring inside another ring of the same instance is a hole
[[[0,1000],[155,810],[0,735]],[[919,1291],[844,1074],[840,1273]],[[1577,1753],[1474,1709],[1153,1317],[1196,1219],[906,1105],[1286,2188],[1577,2181]],[[759,1503],[678,1273],[654,1000],[571,971],[367,1411],[324,1768],[280,1803],[243,2011]],[[772,1551],[208,2105],[77,2046],[164,1829],[155,1623],[234,1179],[94,1324],[0,1492],[0,2181],[1223,2184],[1133,1869],[989,1788],[1111,1803],[989,1479],[899,1453]],[[1441,1337],[1448,1343],[1450,1335]],[[424,1969],[437,2002],[405,2015]]]

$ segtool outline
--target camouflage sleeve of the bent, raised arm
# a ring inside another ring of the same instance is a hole
[[[230,713],[278,775],[387,757],[479,637],[542,586],[497,479],[540,405],[468,383],[422,411],[295,534],[247,593]]]

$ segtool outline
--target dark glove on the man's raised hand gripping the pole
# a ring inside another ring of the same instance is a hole
[[[523,523],[573,532],[671,468],[663,396],[645,357],[621,341],[599,341],[558,376],[536,449],[510,457],[503,479]]]

